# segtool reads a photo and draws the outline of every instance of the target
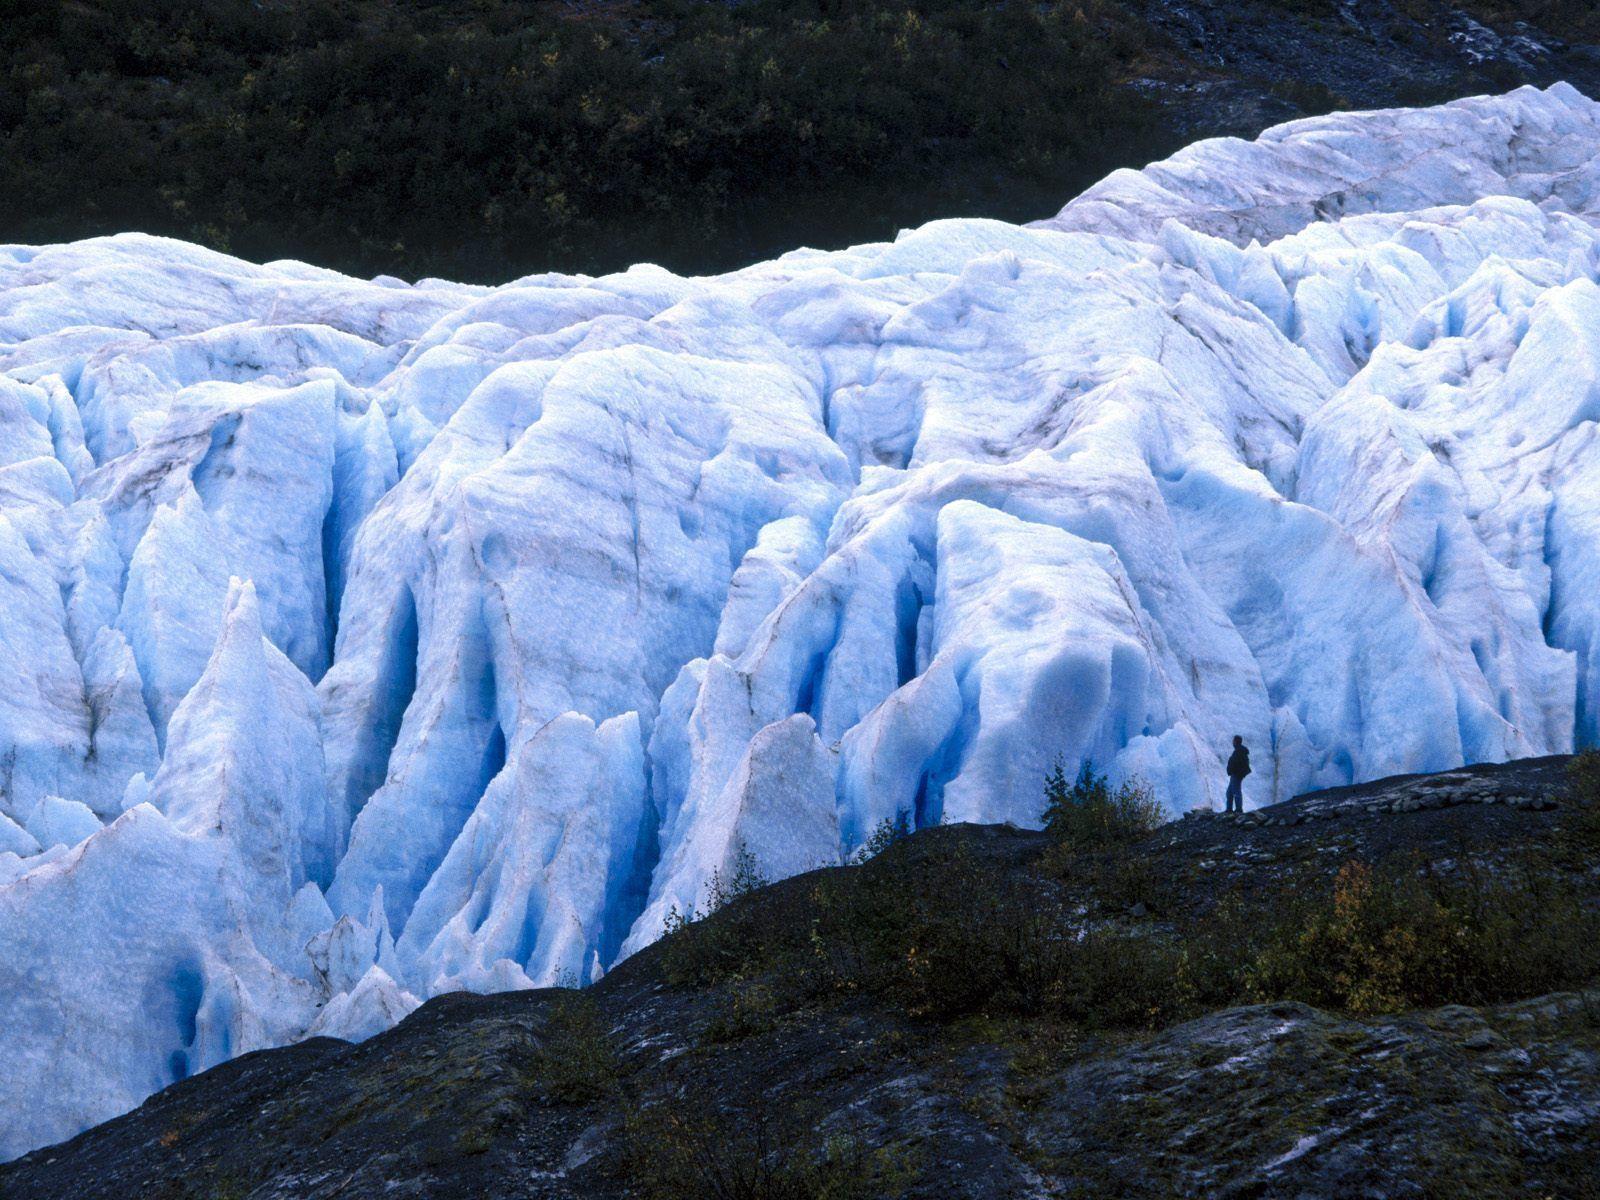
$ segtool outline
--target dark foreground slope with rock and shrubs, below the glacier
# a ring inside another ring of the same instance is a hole
[[[587,992],[205,1072],[0,1195],[1597,1197],[1595,782],[886,835]]]

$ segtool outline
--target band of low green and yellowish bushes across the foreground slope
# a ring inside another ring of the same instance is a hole
[[[1574,797],[1597,786],[1597,758],[1579,760]],[[1376,1014],[1600,979],[1600,912],[1547,862],[1395,858],[1333,877],[1304,866],[1275,891],[1251,880],[1248,898],[1186,909],[1138,842],[1158,816],[1138,786],[1115,789],[1088,766],[1069,786],[1056,771],[1056,840],[1032,864],[997,870],[958,835],[896,837],[790,894],[781,920],[723,901],[710,920],[680,922],[664,947],[669,979],[733,984],[710,1040],[762,1032],[779,1005],[829,995],[936,1022],[1154,1029],[1235,1003]],[[714,907],[742,886],[714,890]]]

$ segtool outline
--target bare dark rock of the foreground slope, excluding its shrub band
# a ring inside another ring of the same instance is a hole
[[[1352,859],[1493,870],[1544,854],[1579,819],[1563,766],[1472,768],[1245,821],[1176,821],[1120,851],[1173,882],[1150,912],[1122,909],[1110,877],[1074,869],[1064,886],[1090,912],[1154,931],[1230,898],[1267,923],[1277,888],[1326,882]],[[1005,827],[925,830],[866,867],[760,890],[710,920],[742,914],[789,936],[835,877],[928,878],[970,856],[998,885],[1045,870],[1046,843]],[[1541,861],[1600,904],[1592,854]],[[0,1168],[0,1195],[802,1197],[821,1192],[782,1165],[829,1146],[856,1165],[829,1195],[1597,1194],[1595,995],[1370,1018],[1277,1002],[1138,1032],[939,1021],[850,992],[741,1008],[750,979],[672,982],[672,946],[581,1002],[448,995],[362,1045],[248,1054]],[[768,1170],[750,1174],[762,1160]],[[757,1184],[766,1190],[738,1190]]]

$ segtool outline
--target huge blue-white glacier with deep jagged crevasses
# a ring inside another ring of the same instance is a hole
[[[0,1157],[886,819],[1600,744],[1600,106],[715,278],[0,246]],[[952,898],[952,902],[960,902]]]

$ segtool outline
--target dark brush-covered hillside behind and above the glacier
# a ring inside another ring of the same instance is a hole
[[[1590,0],[0,0],[0,242],[722,270],[1339,107],[1600,85]]]

